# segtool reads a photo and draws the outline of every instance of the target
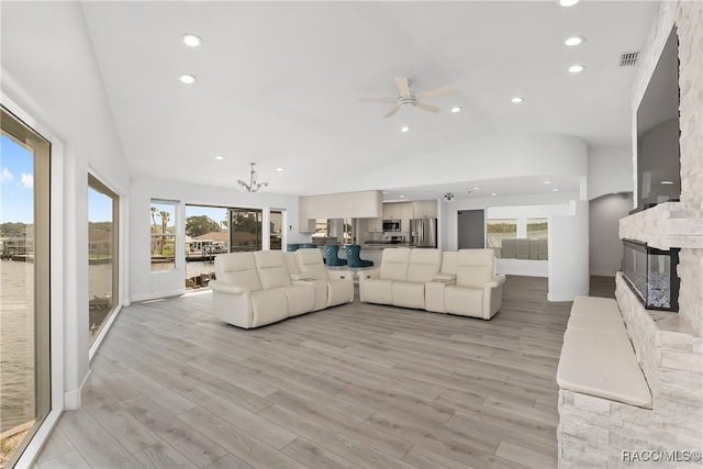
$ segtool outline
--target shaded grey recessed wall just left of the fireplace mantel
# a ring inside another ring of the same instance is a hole
[[[592,276],[614,277],[621,270],[623,242],[620,219],[633,208],[632,192],[607,194],[589,202],[589,266]]]

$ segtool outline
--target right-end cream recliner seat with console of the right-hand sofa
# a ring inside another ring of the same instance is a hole
[[[440,272],[426,283],[425,309],[490,320],[502,305],[505,283],[494,265],[493,249],[443,253]]]

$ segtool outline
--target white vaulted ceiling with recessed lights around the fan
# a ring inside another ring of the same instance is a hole
[[[270,192],[392,188],[437,198],[471,187],[470,177],[427,180],[425,188],[405,188],[402,174],[384,187],[367,187],[365,177],[439,152],[446,156],[434,163],[450,172],[461,156],[451,148],[494,132],[629,145],[634,67],[621,68],[620,56],[643,47],[657,3],[126,1],[82,8],[135,175],[234,186],[248,180],[248,163],[256,161]],[[200,35],[202,46],[186,47],[183,33]],[[587,42],[569,48],[563,41],[571,35]],[[587,64],[585,72],[569,74],[576,63]],[[198,80],[182,85],[181,74]],[[359,102],[397,96],[397,76],[408,77],[414,92],[450,83],[458,92],[426,101],[438,114],[413,110],[413,129],[402,134],[400,113],[386,120],[389,105]],[[514,96],[525,102],[511,103]],[[464,111],[451,114],[455,104]],[[215,160],[217,154],[225,159]],[[489,190],[527,193],[540,182],[499,176]],[[565,185],[576,189],[578,181]]]

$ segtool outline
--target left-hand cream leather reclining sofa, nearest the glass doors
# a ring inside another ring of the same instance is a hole
[[[317,252],[322,264],[320,250],[310,250]],[[309,255],[302,257],[305,256]],[[311,264],[304,264],[305,268]],[[210,281],[215,316],[243,328],[341,304],[343,291],[353,292],[350,278],[346,280],[348,286],[342,283],[345,279],[339,279],[331,288],[330,278],[317,279],[301,271],[298,256],[280,250],[221,254],[215,258],[215,278]],[[330,292],[334,301],[328,298]]]

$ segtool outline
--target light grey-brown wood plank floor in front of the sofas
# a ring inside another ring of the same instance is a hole
[[[349,303],[259,330],[210,293],[122,310],[36,467],[549,468],[570,302],[491,321]]]

